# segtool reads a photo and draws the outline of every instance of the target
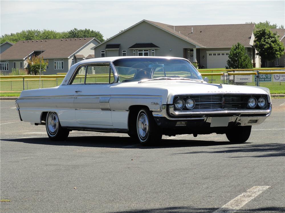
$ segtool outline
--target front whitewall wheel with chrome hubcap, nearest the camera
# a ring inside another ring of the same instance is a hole
[[[142,108],[137,116],[137,137],[142,145],[153,145],[161,140],[162,133],[151,112]]]

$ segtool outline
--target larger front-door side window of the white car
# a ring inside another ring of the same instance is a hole
[[[113,83],[114,75],[109,64],[96,64],[87,67],[87,83]]]

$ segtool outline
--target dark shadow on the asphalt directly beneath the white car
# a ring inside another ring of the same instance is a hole
[[[54,146],[78,146],[78,147],[106,147],[122,149],[162,149],[174,147],[209,147],[223,145],[238,145],[245,143],[232,143],[229,141],[204,141],[204,140],[182,140],[162,139],[152,146],[143,146],[131,137],[117,136],[79,136],[68,137],[66,141],[51,141],[48,137],[2,139],[3,141],[15,141],[21,143],[54,145]]]

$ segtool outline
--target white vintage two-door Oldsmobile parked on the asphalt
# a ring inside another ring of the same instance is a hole
[[[83,60],[60,86],[22,91],[16,106],[21,121],[45,125],[52,140],[86,130],[128,133],[142,144],[210,133],[245,142],[272,107],[269,89],[209,84],[173,57]]]

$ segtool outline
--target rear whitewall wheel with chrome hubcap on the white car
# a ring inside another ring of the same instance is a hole
[[[62,128],[55,112],[48,112],[46,115],[46,132],[48,137],[54,141],[63,141],[69,135],[69,130]]]

